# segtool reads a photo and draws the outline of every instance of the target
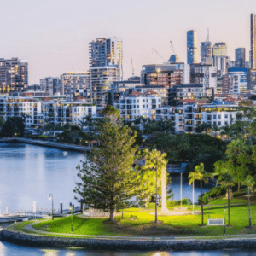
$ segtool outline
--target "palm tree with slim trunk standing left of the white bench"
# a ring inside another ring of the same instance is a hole
[[[213,178],[214,174],[207,172],[205,170],[204,164],[200,163],[200,165],[195,166],[195,172],[189,172],[189,185],[193,183],[195,180],[200,180],[201,187],[201,225],[204,224],[204,207],[203,207],[203,194],[202,194],[202,182],[208,183],[209,177]]]

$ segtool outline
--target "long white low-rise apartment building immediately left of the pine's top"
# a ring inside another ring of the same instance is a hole
[[[96,106],[86,102],[43,102],[44,125],[80,125],[80,121],[86,116],[96,117]]]

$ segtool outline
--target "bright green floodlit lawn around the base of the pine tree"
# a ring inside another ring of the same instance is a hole
[[[209,207],[204,207],[204,224],[207,218],[225,218],[228,223],[228,210],[225,206],[218,206],[219,201]],[[233,203],[245,201],[233,201]],[[200,207],[196,207],[200,209]],[[226,210],[225,210],[226,209]],[[130,209],[131,210],[131,209]],[[124,219],[116,217],[117,224],[104,224],[107,218],[82,218],[73,216],[73,234],[77,235],[108,235],[108,236],[215,236],[224,234],[224,226],[199,226],[201,215],[187,216],[159,216],[161,224],[154,224],[154,215],[150,211],[124,212]],[[130,219],[131,215],[137,216]],[[246,229],[248,225],[247,205],[230,207],[230,224],[226,228],[226,234],[256,234],[256,229]],[[252,224],[256,224],[256,205],[252,206]],[[38,230],[47,230],[55,233],[71,234],[72,217],[58,218],[34,224]]]

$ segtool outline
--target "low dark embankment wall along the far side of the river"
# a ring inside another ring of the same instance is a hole
[[[66,150],[73,150],[78,152],[88,152],[90,151],[89,147],[79,146],[79,145],[72,145],[67,143],[55,143],[55,142],[48,142],[48,141],[40,141],[34,139],[27,139],[21,137],[1,137],[0,143],[27,143],[37,146],[44,146],[49,148],[60,148]]]

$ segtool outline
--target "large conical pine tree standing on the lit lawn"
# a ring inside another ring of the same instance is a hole
[[[133,168],[136,132],[132,133],[119,120],[119,114],[110,110],[104,112],[104,120],[98,127],[98,146],[77,167],[81,182],[76,183],[73,191],[86,204],[109,211],[109,219],[113,221],[115,210],[137,195],[140,172]]]

